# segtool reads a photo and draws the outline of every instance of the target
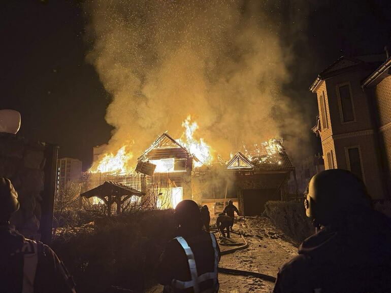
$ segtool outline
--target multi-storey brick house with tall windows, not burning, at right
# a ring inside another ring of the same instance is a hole
[[[391,193],[391,58],[341,57],[320,72],[310,90],[317,95],[325,169],[362,178],[373,199]]]

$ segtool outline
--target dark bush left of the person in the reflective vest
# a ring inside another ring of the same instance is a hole
[[[141,211],[102,219],[95,229],[54,240],[81,293],[142,292],[153,283],[154,267],[174,231],[173,210]]]

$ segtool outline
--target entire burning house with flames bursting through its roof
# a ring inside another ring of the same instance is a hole
[[[152,208],[175,208],[183,199],[220,208],[230,199],[244,215],[260,214],[268,200],[285,200],[287,180],[294,172],[280,140],[271,139],[230,160],[213,158],[205,141],[193,138],[198,128],[188,117],[180,139],[167,132],[160,135],[130,168],[131,153],[122,146],[117,154],[108,153],[96,165],[91,187],[104,181],[118,182],[145,194],[143,202]],[[129,171],[130,169],[130,171]],[[104,170],[104,172],[102,172]],[[89,190],[86,189],[85,191]]]

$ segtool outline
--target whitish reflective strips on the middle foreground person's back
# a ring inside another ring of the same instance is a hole
[[[217,266],[218,266],[218,250],[216,238],[213,233],[210,233],[210,238],[212,239],[212,245],[214,250],[214,270],[213,272],[207,272],[202,275],[198,275],[196,260],[194,259],[193,251],[191,251],[190,246],[187,244],[186,240],[183,237],[176,237],[175,239],[179,242],[182,248],[186,252],[187,261],[189,263],[190,268],[190,281],[179,281],[172,280],[171,287],[176,289],[186,289],[193,287],[194,293],[207,293],[207,292],[217,292],[218,291],[218,283],[217,283]],[[213,288],[204,290],[200,292],[200,283],[206,280],[213,280]]]

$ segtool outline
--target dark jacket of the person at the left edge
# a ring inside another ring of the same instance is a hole
[[[23,284],[23,245],[25,239],[12,227],[0,227],[0,293],[20,293]],[[75,293],[75,284],[54,251],[38,242],[38,263],[34,279],[34,292]]]

